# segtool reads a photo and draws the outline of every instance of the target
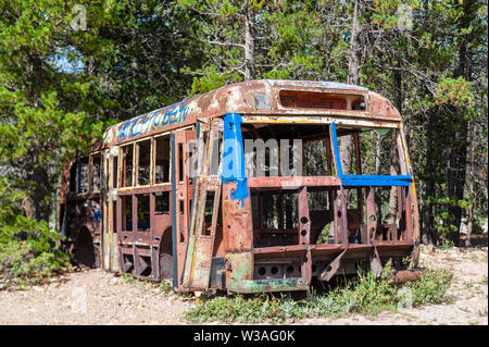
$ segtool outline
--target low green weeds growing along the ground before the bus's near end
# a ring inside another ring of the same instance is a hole
[[[184,318],[190,322],[285,322],[314,317],[344,317],[350,313],[376,315],[381,311],[398,311],[405,303],[413,307],[441,303],[451,274],[443,270],[426,270],[422,276],[403,287],[391,284],[391,268],[387,264],[379,278],[372,272],[359,272],[355,281],[319,295],[311,290],[304,299],[293,300],[260,294],[250,297],[202,298]],[[406,300],[406,297],[409,300]]]

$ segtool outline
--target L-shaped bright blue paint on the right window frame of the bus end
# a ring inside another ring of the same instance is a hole
[[[411,175],[344,175],[341,168],[335,122],[331,123],[331,138],[338,176],[341,178],[343,186],[409,186],[411,184],[413,178]]]

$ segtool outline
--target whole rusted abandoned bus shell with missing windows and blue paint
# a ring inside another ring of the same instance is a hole
[[[388,260],[405,269],[419,235],[413,177],[386,98],[251,80],[109,127],[65,168],[59,226],[78,263],[180,293],[306,290]]]

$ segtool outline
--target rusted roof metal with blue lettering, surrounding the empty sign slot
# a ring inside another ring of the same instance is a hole
[[[330,87],[333,88],[330,88]],[[277,115],[338,115],[352,119],[377,119],[400,122],[401,116],[396,108],[384,97],[365,88],[322,82],[293,80],[249,80],[227,85],[201,96],[184,100],[159,110],[139,115],[108,128],[104,133],[104,145],[122,144],[150,136],[164,131],[172,131],[193,124],[198,117],[215,117],[228,112],[240,114]],[[280,90],[297,90],[336,95],[361,95],[365,98],[366,109],[356,110],[315,110],[301,108],[285,108],[277,100]],[[268,96],[264,101],[261,95]],[[258,100],[258,101],[256,101]]]

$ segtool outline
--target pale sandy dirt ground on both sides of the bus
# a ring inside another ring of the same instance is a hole
[[[450,305],[406,308],[375,318],[304,319],[293,324],[488,324],[488,250],[424,247],[421,267],[453,272]],[[130,281],[103,270],[72,271],[50,283],[0,290],[0,324],[188,324],[181,313],[193,297],[161,290],[158,284]]]

